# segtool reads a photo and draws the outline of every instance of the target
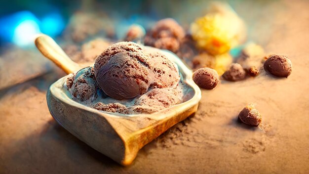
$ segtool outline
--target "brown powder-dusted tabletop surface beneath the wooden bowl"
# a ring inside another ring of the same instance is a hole
[[[308,173],[309,1],[287,1],[280,7],[270,3],[264,13],[254,12],[261,20],[256,31],[265,29],[263,21],[272,26],[255,37],[267,52],[290,57],[289,78],[262,73],[202,90],[198,112],[146,145],[126,168],[52,119],[45,93],[61,75],[0,91],[0,173]],[[275,9],[268,17],[266,12]],[[249,102],[262,114],[264,130],[237,122]]]

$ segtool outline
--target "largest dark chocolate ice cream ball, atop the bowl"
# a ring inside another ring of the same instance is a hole
[[[143,94],[149,87],[148,56],[132,42],[108,47],[94,64],[94,74],[101,89],[115,99]]]

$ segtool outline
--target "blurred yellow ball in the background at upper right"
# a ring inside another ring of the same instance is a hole
[[[226,53],[246,38],[244,22],[228,4],[219,2],[197,18],[190,30],[197,47],[212,55]]]

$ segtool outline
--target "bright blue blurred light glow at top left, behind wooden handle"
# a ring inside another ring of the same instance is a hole
[[[55,37],[63,31],[65,22],[61,14],[54,10],[39,20],[30,11],[20,11],[0,18],[0,42],[10,42],[18,46],[33,46],[35,37],[44,33]]]

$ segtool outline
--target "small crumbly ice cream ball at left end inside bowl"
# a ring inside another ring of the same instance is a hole
[[[99,88],[95,80],[93,67],[81,69],[69,77],[67,87],[73,99],[77,101],[93,100]]]

